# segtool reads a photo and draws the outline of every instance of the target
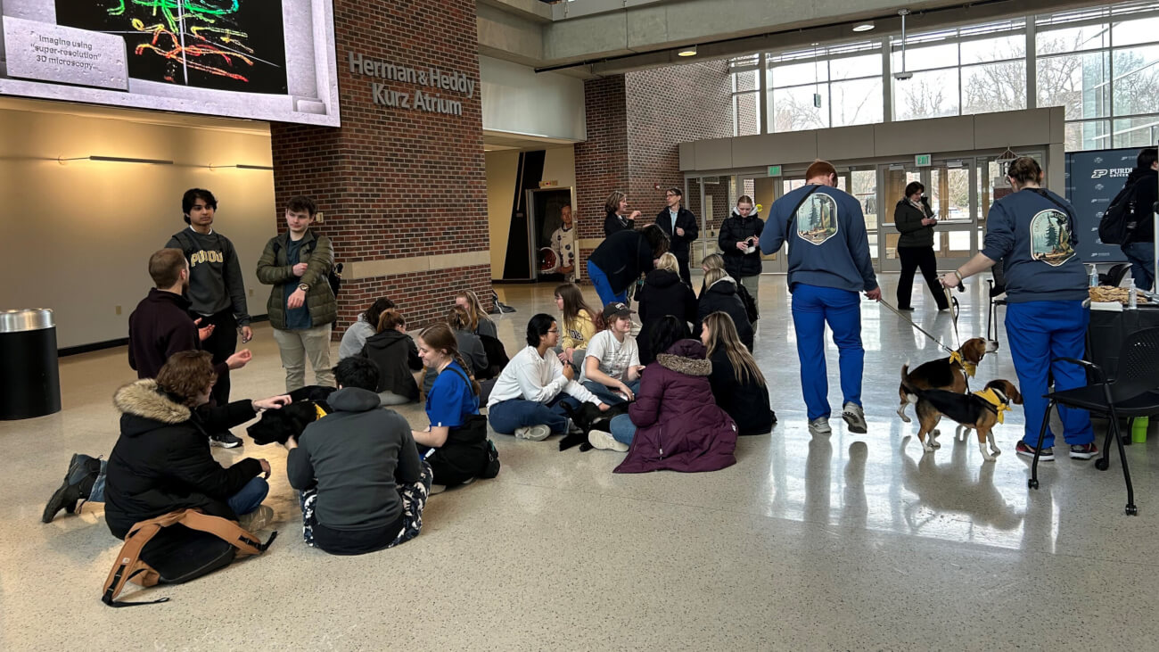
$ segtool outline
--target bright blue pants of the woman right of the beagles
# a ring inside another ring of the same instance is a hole
[[[1091,310],[1080,300],[1025,302],[1006,305],[1006,339],[1018,372],[1019,392],[1022,393],[1022,413],[1026,415],[1022,441],[1038,443],[1038,429],[1049,403],[1042,394],[1050,391],[1048,378],[1052,374],[1055,390],[1072,390],[1087,384],[1086,371],[1078,364],[1050,361],[1056,357],[1083,358],[1086,352],[1086,329]],[[1063,437],[1071,445],[1094,441],[1091,413],[1058,406],[1063,420]],[[1043,448],[1055,445],[1055,433],[1047,426]]]

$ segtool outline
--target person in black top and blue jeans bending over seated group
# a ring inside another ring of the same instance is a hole
[[[627,303],[628,287],[656,267],[656,259],[668,251],[668,233],[655,224],[605,238],[588,256],[588,278],[596,287],[599,302]]]

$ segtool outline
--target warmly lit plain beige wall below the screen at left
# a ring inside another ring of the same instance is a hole
[[[274,173],[202,166],[269,166],[270,137],[264,123],[229,124],[238,128],[0,108],[0,309],[52,309],[60,347],[126,336],[152,287],[148,256],[185,226],[181,195],[201,187],[217,195],[216,226],[241,258],[249,312],[264,314],[269,289],[254,270],[276,232]],[[57,161],[93,154],[177,165]]]

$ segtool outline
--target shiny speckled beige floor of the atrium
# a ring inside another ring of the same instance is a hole
[[[889,297],[896,277],[883,281]],[[551,291],[500,288],[519,309],[498,319],[509,352],[531,314],[554,312]],[[962,300],[963,336],[981,334],[977,288]],[[948,339],[949,318],[917,289],[914,302],[914,319]],[[110,397],[133,377],[124,348],[65,358],[61,413],[0,422],[0,650],[1159,650],[1154,426],[1128,448],[1137,517],[1123,515],[1117,461],[1100,472],[1060,458],[1028,491],[1020,411],[993,464],[948,435],[923,455],[894,413],[897,375],[939,354],[866,302],[869,433],[834,420],[810,437],[782,276],[763,278],[760,304],[757,358],[780,423],[743,439],[730,469],[619,476],[619,454],[496,435],[498,478],[432,497],[415,541],[343,558],[301,543],[283,449],[217,450],[278,470],[278,541],[134,609],[99,600],[119,546],[100,505],[39,522],[68,456],[111,448]],[[268,326],[253,349],[235,398],[283,386]],[[832,347],[826,360],[839,410]],[[978,374],[1014,377],[1005,352]],[[417,406],[400,412],[425,425]]]

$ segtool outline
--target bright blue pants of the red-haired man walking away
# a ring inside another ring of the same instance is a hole
[[[793,287],[793,327],[801,360],[801,391],[809,420],[829,418],[829,376],[825,369],[825,324],[841,370],[841,405],[861,405],[861,372],[866,349],[861,347],[861,297],[850,290],[797,283]]]

